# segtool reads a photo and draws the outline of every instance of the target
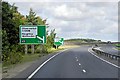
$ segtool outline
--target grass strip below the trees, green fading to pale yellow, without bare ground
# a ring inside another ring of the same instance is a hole
[[[52,54],[52,53],[58,52],[60,50],[74,48],[74,47],[78,47],[78,46],[76,46],[76,45],[64,45],[64,46],[60,46],[58,49],[50,48],[50,49],[48,49],[48,53],[34,53],[34,54],[29,53],[27,55],[23,55],[21,62],[19,62],[17,64],[32,62],[32,61],[35,61],[35,60],[39,59],[40,57],[45,56],[47,54]],[[38,49],[39,49],[39,47],[38,47]],[[11,68],[11,67],[16,66],[17,64],[4,64],[3,63],[3,67]]]

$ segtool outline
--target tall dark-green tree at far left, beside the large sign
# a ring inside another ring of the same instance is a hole
[[[2,59],[11,63],[21,60],[21,54],[16,55],[16,46],[19,43],[19,20],[14,16],[16,12],[17,7],[11,6],[7,2],[2,2]],[[16,57],[12,58],[15,55]]]

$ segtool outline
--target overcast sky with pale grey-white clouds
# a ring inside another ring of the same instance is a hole
[[[49,30],[56,29],[58,37],[118,41],[118,0],[4,1],[15,3],[24,15],[33,8],[37,15],[47,18]]]

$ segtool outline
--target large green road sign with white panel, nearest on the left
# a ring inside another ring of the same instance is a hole
[[[20,25],[20,44],[44,44],[46,43],[45,25]]]

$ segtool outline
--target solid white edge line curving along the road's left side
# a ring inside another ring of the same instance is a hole
[[[55,56],[59,55],[60,53],[66,51],[67,49],[53,55],[52,57],[50,57],[49,59],[47,59],[45,62],[43,62],[26,80],[31,79],[47,62],[49,62],[51,59],[53,59]]]

